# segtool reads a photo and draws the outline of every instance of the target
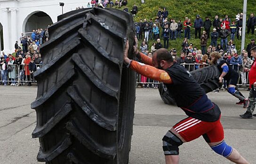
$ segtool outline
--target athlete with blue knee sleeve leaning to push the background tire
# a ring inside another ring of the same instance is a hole
[[[236,56],[238,57],[237,53]],[[239,79],[238,71],[234,70],[232,66],[230,66],[218,52],[212,52],[210,57],[212,58],[211,64],[216,65],[218,70],[221,72],[221,75],[219,76],[219,82],[222,83],[223,80],[226,81],[228,93],[240,100],[236,104],[243,104],[243,108],[247,108],[248,99],[245,98],[239,90],[236,90],[236,85]],[[238,66],[241,64],[242,63],[240,62],[236,65]]]

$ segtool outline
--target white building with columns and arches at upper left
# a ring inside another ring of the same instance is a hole
[[[87,7],[90,0],[0,0],[0,51],[14,52],[15,42],[21,33],[46,29],[57,22],[62,14],[59,2],[64,3],[63,13],[76,7]]]

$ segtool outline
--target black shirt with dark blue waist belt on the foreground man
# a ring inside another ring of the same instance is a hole
[[[194,80],[183,66],[174,63],[165,69],[172,79],[171,84],[165,83],[168,91],[173,95],[176,104],[186,115],[207,122],[214,122],[220,117],[218,106],[212,103],[204,89]]]

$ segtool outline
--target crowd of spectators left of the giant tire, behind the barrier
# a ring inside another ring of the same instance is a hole
[[[4,86],[8,83],[15,86],[17,79],[23,85],[27,82],[31,86],[31,81],[34,81],[33,75],[42,64],[40,46],[48,41],[48,29],[33,30],[30,36],[20,36],[20,42],[16,41],[14,47],[15,52],[9,53],[2,52],[0,55],[0,70],[1,82]]]

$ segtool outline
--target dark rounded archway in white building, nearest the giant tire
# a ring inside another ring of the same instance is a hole
[[[23,33],[26,36],[30,36],[32,30],[43,29],[45,30],[48,25],[51,25],[51,17],[42,11],[35,11],[28,15],[23,23]]]

